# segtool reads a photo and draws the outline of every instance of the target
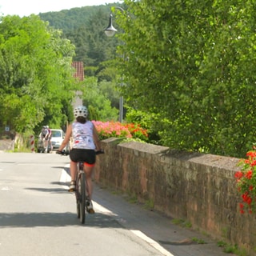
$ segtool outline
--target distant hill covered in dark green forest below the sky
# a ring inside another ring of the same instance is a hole
[[[70,39],[76,46],[74,61],[84,62],[85,67],[98,67],[101,62],[114,58],[117,45],[115,38],[107,38],[104,34],[109,24],[111,6],[120,4],[84,6],[40,13],[39,16],[50,26],[62,30],[63,37]]]

